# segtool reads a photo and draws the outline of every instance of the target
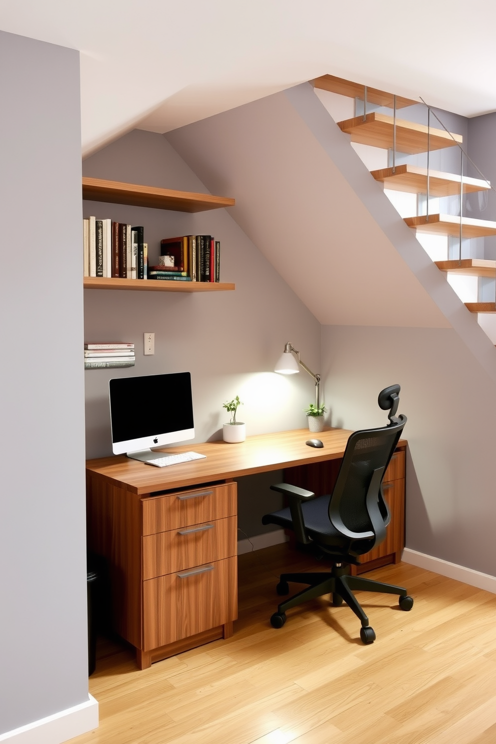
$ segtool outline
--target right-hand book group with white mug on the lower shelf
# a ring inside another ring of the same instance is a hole
[[[220,280],[220,243],[211,235],[182,235],[161,240],[158,266],[149,266],[149,279],[177,281]]]

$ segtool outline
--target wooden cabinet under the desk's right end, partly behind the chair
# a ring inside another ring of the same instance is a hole
[[[284,479],[307,488],[318,496],[331,493],[338,477],[341,460],[302,465],[284,471]],[[384,498],[391,514],[386,538],[373,551],[360,557],[361,565],[350,566],[350,573],[363,574],[388,563],[399,563],[405,548],[405,448],[398,448],[391,458],[382,484]]]

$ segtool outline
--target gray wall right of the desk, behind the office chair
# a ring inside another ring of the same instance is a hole
[[[327,326],[322,353],[333,426],[384,426],[377,395],[402,386],[407,547],[496,575],[495,382],[457,333]]]

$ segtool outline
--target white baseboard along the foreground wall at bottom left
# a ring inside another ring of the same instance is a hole
[[[0,734],[0,742],[62,744],[94,728],[98,728],[98,703],[92,695],[88,695],[88,702]]]

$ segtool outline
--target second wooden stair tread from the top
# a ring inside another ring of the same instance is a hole
[[[352,119],[338,121],[342,132],[351,135],[352,142],[370,144],[388,150],[393,147],[394,119],[384,114],[367,114]],[[405,119],[396,119],[396,151],[399,153],[426,153],[430,150],[441,150],[443,147],[454,147],[462,144],[461,135],[451,135],[444,129],[432,129],[428,138],[428,127],[415,124]]]

